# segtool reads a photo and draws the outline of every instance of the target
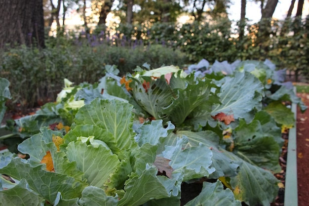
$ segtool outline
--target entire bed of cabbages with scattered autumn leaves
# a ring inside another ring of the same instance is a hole
[[[281,132],[295,124],[286,103],[305,105],[268,61],[203,61],[186,73],[136,68],[121,78],[109,67],[97,84],[66,81],[56,103],[11,125],[30,158],[0,156],[0,173],[17,181],[0,179],[2,200],[19,190],[55,206],[179,206],[184,185],[199,181],[184,206],[269,206]]]

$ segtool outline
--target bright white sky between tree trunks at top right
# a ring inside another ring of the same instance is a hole
[[[238,21],[240,19],[240,8],[241,8],[241,0],[232,0],[232,5],[229,12],[229,17],[231,20]],[[273,18],[277,18],[279,20],[283,20],[286,17],[286,13],[289,10],[291,4],[291,0],[279,0],[276,9],[273,14]],[[292,12],[295,15],[297,9],[297,0],[294,5],[294,9]],[[303,8],[303,18],[308,14],[309,12],[309,0],[305,0],[304,8]],[[260,3],[253,2],[252,0],[247,0],[246,5],[246,18],[249,20],[252,20],[253,22],[257,22],[261,18],[261,9],[260,9]]]

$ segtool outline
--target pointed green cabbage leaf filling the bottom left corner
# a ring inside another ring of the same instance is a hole
[[[27,188],[25,179],[13,188],[0,191],[0,205],[2,206],[44,206],[45,200]]]

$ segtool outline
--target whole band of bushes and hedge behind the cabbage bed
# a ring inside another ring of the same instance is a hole
[[[105,65],[116,65],[124,75],[144,63],[185,68],[203,58],[210,64],[270,59],[276,68],[293,71],[302,81],[309,78],[309,19],[268,22],[263,33],[258,23],[246,23],[242,37],[238,24],[227,18],[183,25],[120,24],[90,32],[60,30],[56,37],[46,36],[44,49],[20,46],[0,51],[0,76],[11,82],[10,109],[16,103],[31,108],[53,101],[64,78],[76,84],[97,82]]]

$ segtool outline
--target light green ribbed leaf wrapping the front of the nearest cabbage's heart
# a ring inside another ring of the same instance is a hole
[[[77,163],[77,168],[84,173],[87,183],[99,188],[104,186],[110,173],[120,164],[117,155],[102,145],[70,142],[66,155],[71,162]]]

